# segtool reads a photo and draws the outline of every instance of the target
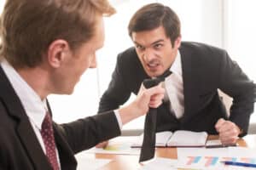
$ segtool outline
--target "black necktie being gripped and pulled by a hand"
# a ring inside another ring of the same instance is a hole
[[[171,74],[172,72],[169,71],[168,69],[160,77],[144,80],[143,85],[145,88],[152,88],[158,85],[160,82],[163,82],[165,78]],[[157,117],[156,114],[157,114],[157,110],[155,108],[149,108],[148,114],[144,122],[143,146],[142,146],[139,161],[147,161],[154,157],[156,117]]]

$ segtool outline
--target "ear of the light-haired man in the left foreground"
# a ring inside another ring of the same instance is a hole
[[[49,44],[47,59],[49,65],[54,68],[61,66],[61,61],[69,54],[68,42],[62,39],[55,40]]]

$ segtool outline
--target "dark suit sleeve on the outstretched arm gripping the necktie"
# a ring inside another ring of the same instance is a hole
[[[57,126],[74,153],[120,135],[113,111]]]

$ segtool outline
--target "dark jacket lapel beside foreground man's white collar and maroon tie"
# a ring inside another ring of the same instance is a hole
[[[15,94],[15,90],[5,76],[1,66],[0,80],[0,99],[6,105],[9,116],[13,117],[17,122],[17,136],[20,138],[20,143],[24,146],[27,156],[32,161],[34,169],[50,169],[49,162],[20,103],[20,99]]]

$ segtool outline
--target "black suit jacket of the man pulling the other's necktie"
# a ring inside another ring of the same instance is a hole
[[[108,121],[106,121],[108,120]],[[74,154],[120,134],[112,111],[76,122],[53,124],[61,170],[74,170]],[[0,66],[0,169],[49,170],[26,112]]]

